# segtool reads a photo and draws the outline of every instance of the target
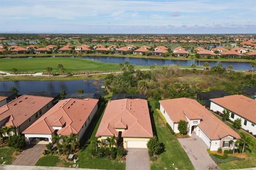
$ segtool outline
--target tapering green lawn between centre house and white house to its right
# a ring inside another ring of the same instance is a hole
[[[160,116],[155,112],[155,108],[152,106],[154,111],[153,117],[155,127],[153,125],[153,131],[156,131],[159,141],[165,145],[165,152],[159,155],[156,162],[150,165],[151,169],[194,169],[194,166],[190,162],[185,150],[181,147],[178,139],[174,137],[166,125],[164,125]],[[154,123],[153,123],[154,124]],[[155,130],[154,130],[155,129]],[[172,166],[172,164],[174,164]]]

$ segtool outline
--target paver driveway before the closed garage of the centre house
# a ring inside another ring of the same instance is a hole
[[[126,170],[149,170],[149,155],[147,148],[128,148],[126,155]]]

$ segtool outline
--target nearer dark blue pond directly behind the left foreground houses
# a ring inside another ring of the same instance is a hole
[[[0,91],[9,91],[10,87],[19,90],[19,94],[28,94],[29,92],[60,92],[66,90],[67,94],[75,93],[77,89],[84,89],[84,93],[101,92],[102,79],[99,85],[93,84],[95,80],[74,80],[74,81],[0,81]]]

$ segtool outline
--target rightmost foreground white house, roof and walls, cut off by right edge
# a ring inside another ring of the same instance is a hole
[[[210,99],[210,109],[214,112],[223,112],[228,109],[230,120],[242,119],[242,128],[256,134],[256,100],[243,95],[231,95],[221,98]]]

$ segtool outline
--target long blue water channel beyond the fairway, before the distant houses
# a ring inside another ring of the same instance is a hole
[[[35,56],[29,56],[24,58],[31,58]],[[188,66],[191,64],[190,60],[168,60],[168,59],[155,59],[155,58],[135,58],[135,57],[115,57],[115,56],[45,56],[45,57],[70,57],[70,58],[84,58],[92,61],[98,61],[101,63],[124,63],[130,62],[135,65],[172,65],[178,64],[181,66]],[[200,65],[202,66],[206,61],[201,61]],[[210,66],[216,66],[219,63],[222,64],[223,67],[227,67],[228,65],[233,65],[234,70],[250,70],[251,63],[250,62],[223,62],[223,61],[207,61]],[[199,65],[199,63],[192,61],[192,64]]]

